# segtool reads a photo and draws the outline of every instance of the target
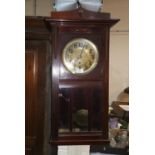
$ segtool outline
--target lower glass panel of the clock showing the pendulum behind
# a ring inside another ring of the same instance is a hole
[[[86,88],[86,86],[88,88]],[[60,85],[59,133],[101,131],[103,126],[101,83]]]

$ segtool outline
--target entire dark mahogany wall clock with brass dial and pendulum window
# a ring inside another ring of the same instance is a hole
[[[52,145],[106,144],[109,33],[118,19],[84,9],[52,12]]]

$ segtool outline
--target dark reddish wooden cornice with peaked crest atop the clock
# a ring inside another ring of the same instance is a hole
[[[81,22],[81,23],[92,23],[96,24],[110,24],[110,26],[116,24],[119,19],[112,19],[110,13],[106,12],[92,12],[83,8],[78,8],[73,11],[53,11],[51,17],[45,19],[47,22],[62,23],[62,22]]]

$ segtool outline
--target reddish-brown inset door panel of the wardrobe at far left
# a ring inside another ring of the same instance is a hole
[[[36,111],[37,111],[37,59],[38,53],[34,49],[26,49],[25,56],[25,134],[26,153],[32,154],[36,145]]]

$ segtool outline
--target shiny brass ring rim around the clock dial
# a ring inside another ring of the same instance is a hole
[[[88,44],[94,49],[94,51],[95,51],[95,59],[94,59],[94,61],[93,61],[93,64],[91,65],[91,67],[90,67],[89,69],[87,69],[86,71],[84,71],[84,72],[82,72],[82,73],[73,72],[72,69],[71,69],[71,67],[68,66],[67,61],[65,60],[65,54],[66,54],[66,52],[67,52],[68,47],[70,47],[73,43],[78,42],[78,41],[88,43]],[[64,64],[65,68],[66,68],[71,74],[73,74],[73,75],[86,75],[86,74],[90,73],[90,72],[93,71],[93,70],[95,69],[95,67],[97,66],[97,64],[98,64],[98,59],[99,59],[99,52],[98,52],[97,46],[96,46],[92,41],[90,41],[90,40],[88,40],[88,39],[85,39],[85,38],[76,38],[76,39],[72,39],[71,41],[69,41],[69,42],[65,45],[65,47],[64,47],[64,49],[63,49],[63,51],[62,51],[62,61],[63,61],[63,64]]]

